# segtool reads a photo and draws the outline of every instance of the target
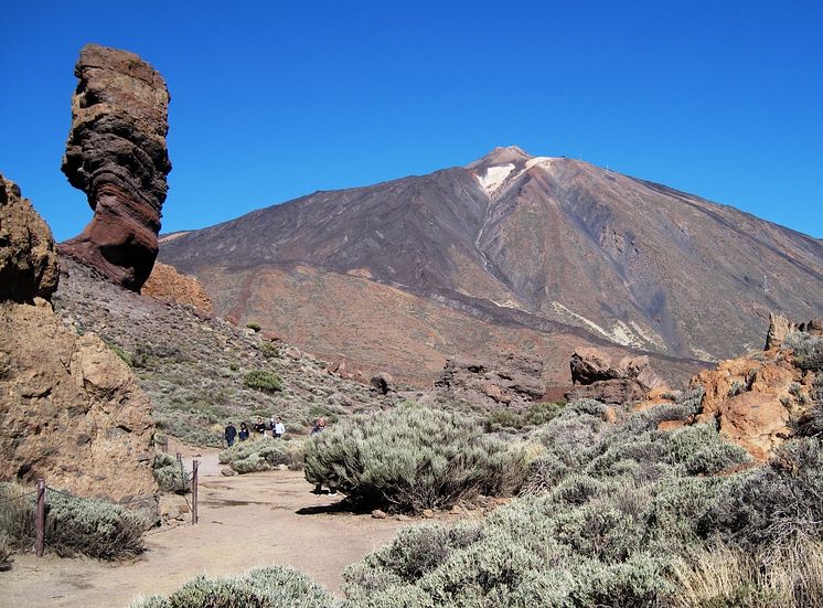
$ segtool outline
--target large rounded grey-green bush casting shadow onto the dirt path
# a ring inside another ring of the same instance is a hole
[[[524,474],[522,449],[507,449],[464,417],[414,405],[355,415],[306,446],[306,479],[394,512],[511,493]]]

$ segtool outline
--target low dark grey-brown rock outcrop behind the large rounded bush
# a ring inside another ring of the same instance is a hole
[[[435,387],[490,408],[527,407],[546,393],[543,362],[517,353],[501,354],[494,362],[448,359]]]

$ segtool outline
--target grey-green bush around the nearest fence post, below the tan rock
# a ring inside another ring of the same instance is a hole
[[[0,500],[22,497],[23,489],[0,483]],[[36,499],[28,495],[3,504],[0,525],[14,546],[34,543]],[[146,521],[119,504],[46,490],[45,546],[61,556],[87,555],[120,559],[142,553]]]

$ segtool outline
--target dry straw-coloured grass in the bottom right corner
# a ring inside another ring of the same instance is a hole
[[[676,608],[823,608],[823,542],[752,556],[717,545],[674,568]]]

